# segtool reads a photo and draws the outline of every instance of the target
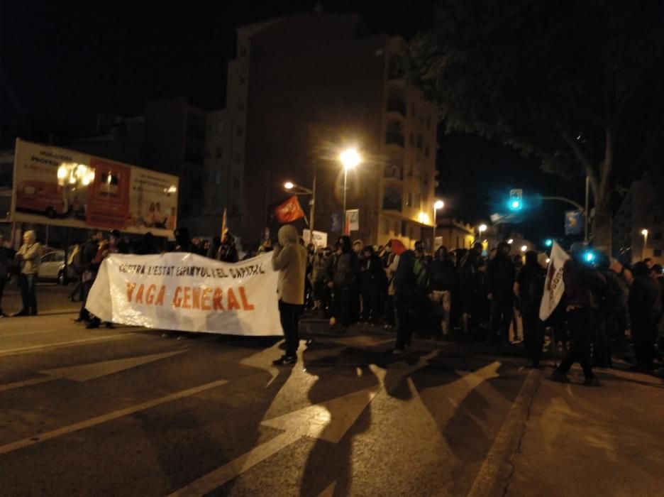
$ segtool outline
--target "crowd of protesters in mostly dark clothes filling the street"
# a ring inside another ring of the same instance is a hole
[[[242,253],[230,231],[210,241],[191,238],[187,229],[174,234],[170,250],[228,263],[274,251],[274,266],[280,271],[282,327],[287,334],[287,354],[275,364],[294,361],[299,317],[303,312],[319,312],[339,333],[357,323],[393,330],[396,342],[391,353],[395,355],[409,350],[413,334],[488,340],[506,351],[518,341],[521,328],[525,354],[538,367],[545,331],[550,329],[550,348],[566,354],[553,371],[556,381],[568,381],[570,367],[578,362],[586,383],[599,384],[593,368],[611,368],[614,355],[627,351],[628,337],[639,371],[663,371],[658,361],[664,351],[664,275],[662,267],[649,259],[627,267],[597,254],[588,263],[583,256],[587,247],[572,244],[571,258],[563,268],[565,295],[542,322],[539,310],[548,256],[535,251],[511,254],[507,241],[489,250],[476,243],[453,251],[439,247],[429,254],[420,241],[406,249],[398,239],[371,246],[341,236],[331,247],[316,248],[305,246],[294,227],[283,226],[277,243],[267,239],[254,253]],[[89,315],[86,300],[106,256],[164,250],[150,233],[128,240],[116,230],[90,231],[89,239],[74,246],[68,258],[76,275],[70,299],[81,302],[77,322],[89,328],[101,324]],[[35,282],[42,255],[34,231],[26,231],[16,255],[0,251],[0,273],[8,275],[10,267],[20,268],[23,305],[16,316],[37,314]],[[6,278],[0,278],[2,316],[5,283]]]

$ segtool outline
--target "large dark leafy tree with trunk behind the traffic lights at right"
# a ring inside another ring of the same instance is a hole
[[[411,77],[448,130],[497,138],[586,175],[594,242],[611,246],[611,179],[664,115],[664,3],[443,0]]]

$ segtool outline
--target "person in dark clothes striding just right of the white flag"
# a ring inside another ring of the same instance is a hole
[[[607,279],[583,261],[584,251],[584,244],[572,244],[571,258],[563,266],[563,299],[572,337],[570,349],[565,359],[551,373],[551,379],[569,383],[567,374],[577,361],[583,369],[584,384],[600,386],[599,379],[592,372],[591,344],[596,326],[597,294],[602,292]]]

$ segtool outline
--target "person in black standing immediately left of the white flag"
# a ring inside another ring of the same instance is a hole
[[[514,294],[519,298],[521,319],[524,323],[524,345],[533,367],[539,367],[544,346],[544,327],[539,318],[539,308],[544,293],[546,271],[537,261],[537,253],[526,252],[526,264],[514,283]]]

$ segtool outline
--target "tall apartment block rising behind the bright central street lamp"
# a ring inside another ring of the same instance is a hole
[[[406,48],[402,38],[365,35],[354,14],[297,14],[238,29],[226,112],[243,241],[278,226],[271,214],[289,196],[284,182],[311,188],[314,178],[314,229],[341,235],[338,156],[347,147],[363,158],[345,181],[346,207],[360,214],[351,236],[365,244],[431,236],[438,111],[406,82]],[[310,198],[301,197],[307,214]]]

